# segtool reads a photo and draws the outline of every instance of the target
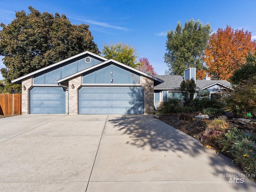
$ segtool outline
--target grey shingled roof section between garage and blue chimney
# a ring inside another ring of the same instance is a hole
[[[155,77],[164,82],[155,86],[154,90],[180,90],[180,84],[184,80],[180,75],[155,75]]]

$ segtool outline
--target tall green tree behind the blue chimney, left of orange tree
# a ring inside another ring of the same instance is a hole
[[[203,69],[202,56],[211,31],[210,24],[204,25],[200,20],[193,19],[186,21],[183,28],[178,22],[175,31],[168,31],[164,62],[169,69],[165,73],[183,76],[188,66]]]

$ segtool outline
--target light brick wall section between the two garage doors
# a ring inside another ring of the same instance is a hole
[[[74,89],[71,85],[74,85]],[[69,114],[78,114],[78,88],[82,84],[82,75],[75,76],[68,80],[69,89]]]

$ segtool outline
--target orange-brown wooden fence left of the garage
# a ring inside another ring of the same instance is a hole
[[[21,115],[21,94],[0,94],[0,115]]]

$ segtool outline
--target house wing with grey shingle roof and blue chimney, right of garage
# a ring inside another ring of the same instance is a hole
[[[180,98],[183,100],[180,84],[184,79],[196,79],[196,68],[188,68],[184,71],[184,77],[180,75],[158,75],[156,78],[164,80],[163,83],[154,87],[154,107],[162,108],[163,102],[169,98]],[[196,92],[198,90],[209,90],[210,98],[218,98],[219,91],[231,89],[231,83],[226,80],[211,80],[206,75],[203,80],[196,80]],[[196,95],[195,95],[196,96]]]

